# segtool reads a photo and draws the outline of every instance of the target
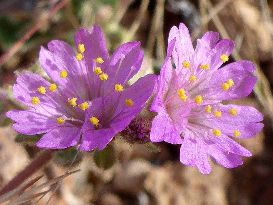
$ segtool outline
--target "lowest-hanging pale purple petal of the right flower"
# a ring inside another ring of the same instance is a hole
[[[202,174],[211,172],[211,165],[207,153],[198,136],[186,129],[184,142],[180,148],[180,162],[188,166],[197,166]]]

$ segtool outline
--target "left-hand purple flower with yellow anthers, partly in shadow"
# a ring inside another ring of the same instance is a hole
[[[139,42],[119,46],[109,59],[102,29],[93,26],[75,35],[77,53],[68,43],[53,40],[41,47],[39,62],[54,83],[35,73],[22,73],[13,95],[31,110],[8,111],[22,134],[45,133],[37,146],[64,149],[79,143],[81,150],[102,150],[129,125],[153,93],[156,76],[149,74],[125,89],[140,69]]]

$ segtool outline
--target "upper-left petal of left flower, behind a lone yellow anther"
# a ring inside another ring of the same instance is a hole
[[[66,87],[66,91],[74,96],[84,98],[86,91],[86,68],[83,62],[76,59],[74,50],[68,43],[53,40],[48,43],[49,50],[41,46],[39,62],[48,76],[57,84]],[[61,71],[67,72],[61,78]]]

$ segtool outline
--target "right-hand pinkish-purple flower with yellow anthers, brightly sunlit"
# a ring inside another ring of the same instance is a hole
[[[258,123],[263,115],[255,108],[221,104],[248,96],[257,77],[251,76],[255,66],[249,61],[218,69],[234,49],[232,40],[218,40],[217,32],[207,32],[197,39],[194,50],[187,27],[182,23],[179,29],[174,26],[150,108],[158,113],[153,119],[151,141],[182,144],[180,161],[197,166],[203,174],[211,172],[208,156],[227,168],[241,165],[238,155],[251,153],[231,137],[251,138],[264,127]]]

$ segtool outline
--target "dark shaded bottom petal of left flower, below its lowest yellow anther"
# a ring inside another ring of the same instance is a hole
[[[91,151],[98,147],[103,150],[106,145],[113,139],[116,132],[112,128],[88,130],[83,132],[82,142],[79,150]]]

